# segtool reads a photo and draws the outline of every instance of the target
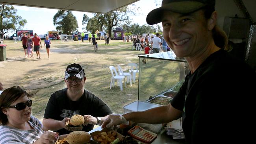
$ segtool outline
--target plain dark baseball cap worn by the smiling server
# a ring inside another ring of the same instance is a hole
[[[147,15],[148,24],[158,24],[161,22],[163,11],[173,11],[174,13],[192,13],[205,6],[215,6],[215,0],[163,0],[162,6],[150,11]]]

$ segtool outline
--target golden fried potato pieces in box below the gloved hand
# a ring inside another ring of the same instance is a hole
[[[111,144],[111,142],[113,142],[116,138],[117,133],[115,133],[114,131],[98,133],[98,135],[93,137],[93,139],[100,144]]]

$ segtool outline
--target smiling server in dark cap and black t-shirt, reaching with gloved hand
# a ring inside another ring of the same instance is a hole
[[[147,16],[162,22],[163,36],[190,72],[171,103],[143,112],[111,114],[102,127],[127,121],[161,124],[182,117],[187,144],[254,141],[256,74],[226,52],[227,37],[216,26],[215,0],[163,0]]]

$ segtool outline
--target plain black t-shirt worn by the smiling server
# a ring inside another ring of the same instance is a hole
[[[171,102],[183,111],[186,143],[252,141],[255,89],[256,74],[247,64],[224,50],[211,54],[186,76]]]

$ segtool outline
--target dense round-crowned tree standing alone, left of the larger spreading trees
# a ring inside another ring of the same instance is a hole
[[[56,30],[64,34],[73,33],[78,28],[76,17],[71,11],[65,10],[58,10],[53,17],[53,24],[56,26]]]

